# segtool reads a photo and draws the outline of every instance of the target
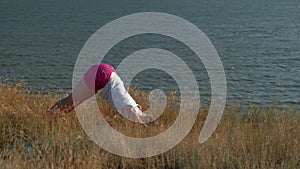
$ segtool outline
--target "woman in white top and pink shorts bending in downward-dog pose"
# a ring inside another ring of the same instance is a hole
[[[47,115],[51,119],[56,119],[59,117],[55,113],[56,110],[69,113],[99,91],[100,96],[106,99],[121,115],[135,122],[145,123],[151,121],[151,117],[142,112],[141,106],[126,91],[124,83],[117,75],[116,70],[108,64],[91,66],[72,93],[54,104]]]

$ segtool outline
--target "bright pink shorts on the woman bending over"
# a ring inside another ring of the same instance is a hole
[[[112,72],[116,72],[116,70],[111,65],[92,65],[84,74],[85,84],[89,89],[95,89],[95,92],[97,92],[109,82]]]

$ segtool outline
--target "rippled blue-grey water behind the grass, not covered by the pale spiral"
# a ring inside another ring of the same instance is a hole
[[[149,11],[187,19],[209,37],[225,69],[228,104],[300,105],[299,0],[1,0],[0,76],[9,83],[25,79],[32,90],[68,91],[78,53],[96,30],[124,15]],[[173,39],[132,37],[116,45],[105,61],[116,66],[122,57],[145,47],[181,56],[207,102],[210,87],[203,65]],[[172,78],[157,70],[139,73],[132,85],[176,88]]]

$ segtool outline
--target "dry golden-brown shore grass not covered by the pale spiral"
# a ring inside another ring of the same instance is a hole
[[[146,93],[131,91],[147,107]],[[300,168],[300,112],[293,109],[227,108],[213,136],[204,144],[198,137],[208,108],[201,108],[189,135],[172,150],[149,158],[113,155],[94,144],[74,112],[49,122],[45,111],[61,95],[25,91],[22,83],[0,85],[0,168]],[[169,103],[175,98],[168,96]],[[107,121],[127,135],[147,137],[168,128],[177,108],[149,128],[122,119],[100,102]],[[145,132],[146,131],[146,132]]]

